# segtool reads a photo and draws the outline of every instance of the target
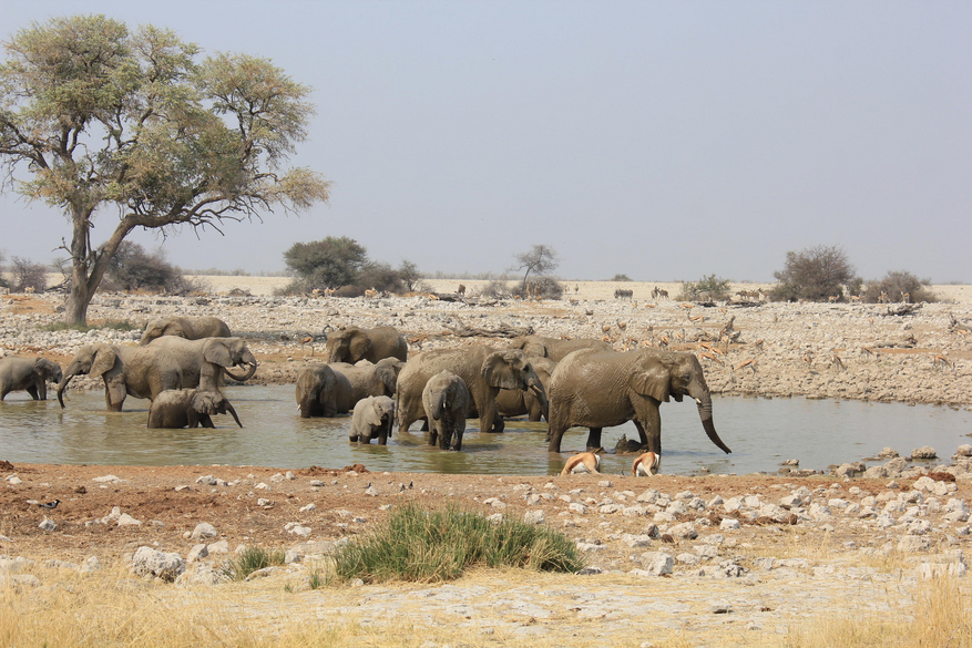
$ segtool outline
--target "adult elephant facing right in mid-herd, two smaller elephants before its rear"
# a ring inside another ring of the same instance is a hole
[[[501,389],[531,390],[541,402],[546,393],[530,359],[516,349],[497,350],[475,346],[462,349],[436,349],[409,360],[398,376],[398,426],[402,432],[426,419],[422,390],[429,379],[448,370],[462,379],[471,403],[468,416],[479,416],[482,432],[502,432],[503,418],[497,413],[497,394]]]

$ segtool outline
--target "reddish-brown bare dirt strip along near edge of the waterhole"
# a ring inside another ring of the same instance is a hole
[[[12,475],[22,483],[16,484],[17,480],[11,483]],[[117,480],[103,479],[111,476]],[[218,484],[198,483],[203,476],[212,476]],[[90,555],[121,557],[141,545],[153,544],[164,551],[185,555],[195,544],[195,541],[185,536],[203,522],[216,527],[219,532],[217,539],[226,539],[231,551],[241,544],[287,548],[301,539],[334,541],[375,528],[376,523],[387,515],[387,508],[403,502],[428,507],[448,502],[491,514],[495,510],[483,502],[498,497],[507,504],[504,515],[522,518],[530,508],[524,495],[529,486],[535,490],[533,492],[553,495],[583,488],[581,497],[593,496],[598,500],[624,491],[641,494],[652,487],[672,495],[690,491],[704,501],[716,494],[724,500],[735,495],[759,494],[766,501],[776,501],[799,486],[805,485],[812,491],[830,488],[835,484],[833,477],[823,476],[658,475],[648,480],[617,475],[375,473],[360,464],[288,471],[286,467],[256,466],[12,465],[8,462],[0,462],[0,480],[4,480],[0,488],[0,536],[4,536],[0,538],[0,554],[70,560],[83,560]],[[611,486],[604,485],[606,482],[611,482]],[[860,487],[862,492],[858,496],[862,497],[886,490],[886,482],[853,480],[843,484],[843,487]],[[907,490],[910,484],[902,481],[900,485]],[[377,494],[366,493],[369,486]],[[958,493],[950,496],[969,500],[972,497],[972,485],[968,481],[960,481]],[[60,500],[60,503],[53,510],[39,505],[55,500]],[[311,503],[315,505],[313,511],[300,511]],[[592,532],[595,536],[604,535],[606,532],[596,528],[595,524],[601,521],[610,520],[610,531],[615,533],[642,533],[651,521],[649,516],[608,517],[594,513],[585,516],[585,525],[576,526],[563,524],[556,517],[559,511],[566,510],[566,503],[552,497],[543,502],[543,506],[548,522],[555,527],[563,526],[565,533],[575,538],[591,536]],[[141,524],[119,526],[113,522],[99,522],[113,507],[119,507],[121,513]],[[718,529],[724,515],[722,510],[708,513],[715,529]],[[697,516],[695,513],[686,516],[686,520]],[[49,533],[39,528],[44,517],[54,521],[57,529]],[[307,525],[313,533],[307,538],[298,538],[285,528],[289,523]],[[778,542],[778,523],[769,521],[755,525],[747,522],[749,532],[746,539],[750,543]],[[763,527],[773,528],[764,534],[760,532]],[[873,546],[878,541],[860,527],[841,525],[833,534],[833,542]],[[623,552],[612,556],[610,552],[598,554],[598,565],[604,569],[631,568],[624,566],[626,556]],[[615,564],[615,558],[618,564]]]

